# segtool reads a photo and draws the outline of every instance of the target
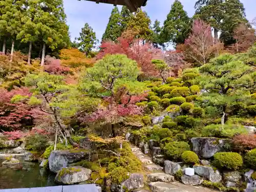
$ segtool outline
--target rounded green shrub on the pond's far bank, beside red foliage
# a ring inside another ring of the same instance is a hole
[[[26,137],[25,148],[29,151],[44,151],[49,146],[49,138],[46,135],[31,135]]]

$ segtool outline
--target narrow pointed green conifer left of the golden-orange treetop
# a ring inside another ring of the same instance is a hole
[[[116,41],[118,37],[121,36],[121,16],[117,7],[115,7],[110,15],[109,23],[106,26],[106,30],[102,36],[103,40],[113,40]]]

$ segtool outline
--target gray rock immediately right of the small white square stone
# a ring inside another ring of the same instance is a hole
[[[222,177],[221,177],[221,173],[219,172],[219,170],[214,170],[212,167],[210,166],[193,166],[194,170],[195,170],[195,174],[199,175],[205,179],[208,179],[211,182],[217,183],[217,182],[221,182]]]

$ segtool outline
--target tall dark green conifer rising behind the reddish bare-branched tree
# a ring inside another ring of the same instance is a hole
[[[172,41],[175,46],[184,44],[189,29],[190,19],[187,16],[187,12],[184,11],[183,5],[178,0],[175,0],[164,21],[161,39],[163,39],[164,42]]]

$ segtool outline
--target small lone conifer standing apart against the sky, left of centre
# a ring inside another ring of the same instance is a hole
[[[93,31],[93,28],[86,23],[79,34],[80,37],[77,38],[79,41],[79,50],[86,53],[86,55],[90,55],[97,42],[96,33]]]

